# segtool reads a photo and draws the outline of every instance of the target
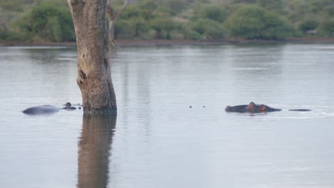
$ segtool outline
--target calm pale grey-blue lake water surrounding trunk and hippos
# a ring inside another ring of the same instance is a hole
[[[81,103],[76,49],[0,47],[0,187],[334,187],[333,50],[123,47],[114,120],[24,115]],[[283,111],[224,111],[251,101]]]

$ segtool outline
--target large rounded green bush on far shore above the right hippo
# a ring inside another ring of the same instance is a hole
[[[247,39],[280,40],[289,36],[288,24],[278,15],[258,6],[243,6],[228,19],[233,36]]]

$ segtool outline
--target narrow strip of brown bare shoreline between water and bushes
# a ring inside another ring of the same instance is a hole
[[[226,39],[220,41],[191,41],[191,40],[116,40],[117,46],[159,46],[159,45],[210,45],[225,43],[334,43],[334,38],[288,38],[284,41],[269,40],[246,40],[246,39]],[[2,41],[0,46],[76,46],[76,42],[22,42],[22,41]]]

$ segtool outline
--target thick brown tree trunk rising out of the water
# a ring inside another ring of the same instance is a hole
[[[108,59],[106,0],[68,0],[78,51],[77,83],[83,113],[116,115],[116,96]]]

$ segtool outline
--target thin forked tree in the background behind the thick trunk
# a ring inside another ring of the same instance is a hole
[[[108,15],[109,19],[109,41],[111,44],[113,44],[113,39],[115,38],[115,33],[114,33],[114,28],[115,28],[115,23],[119,18],[119,15],[124,11],[126,8],[126,5],[128,4],[128,0],[124,0],[123,6],[119,11],[115,11],[113,7],[111,6],[111,0],[107,0],[106,4],[106,14]]]

